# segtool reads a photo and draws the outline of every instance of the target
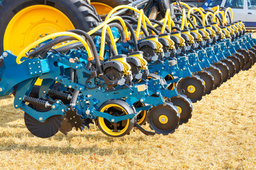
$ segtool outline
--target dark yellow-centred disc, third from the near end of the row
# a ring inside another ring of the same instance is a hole
[[[201,100],[206,86],[203,85],[203,80],[198,76],[185,77],[178,82],[178,92],[186,95],[194,103]]]

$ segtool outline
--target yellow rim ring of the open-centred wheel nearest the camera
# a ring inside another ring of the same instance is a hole
[[[117,105],[117,104],[109,104],[109,105],[106,105],[106,106],[104,106],[104,107],[100,110],[100,112],[105,112],[105,111],[107,111],[109,108],[112,108],[112,107],[121,108],[122,111],[124,111],[124,113],[127,114],[127,112],[124,110],[124,108],[122,108],[122,106],[119,106],[119,105]],[[100,127],[102,128],[102,130],[104,130],[104,132],[106,132],[107,134],[112,135],[112,136],[119,136],[119,135],[122,135],[124,132],[126,132],[128,126],[129,126],[129,119],[128,119],[128,120],[122,120],[122,125],[124,125],[124,123],[126,123],[125,126],[124,126],[124,128],[122,128],[122,130],[119,130],[119,132],[113,132],[112,129],[110,129],[110,128],[106,125],[105,121],[107,121],[107,120],[105,120],[105,118],[98,118],[98,123],[99,123]],[[120,123],[120,122],[119,122],[119,123]]]

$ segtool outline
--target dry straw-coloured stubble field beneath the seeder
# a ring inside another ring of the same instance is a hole
[[[112,138],[92,125],[48,139],[26,129],[14,98],[0,98],[0,169],[256,169],[256,65],[193,104],[169,136]]]

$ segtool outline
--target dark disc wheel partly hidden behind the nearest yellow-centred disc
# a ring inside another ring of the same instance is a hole
[[[172,97],[171,103],[178,108],[178,113],[181,115],[179,124],[188,123],[188,120],[192,117],[193,106],[191,101],[185,95],[179,97]]]

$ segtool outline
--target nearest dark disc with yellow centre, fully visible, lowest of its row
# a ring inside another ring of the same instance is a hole
[[[153,106],[149,110],[148,123],[157,134],[169,135],[178,128],[179,118],[176,106],[166,103],[166,106]]]

